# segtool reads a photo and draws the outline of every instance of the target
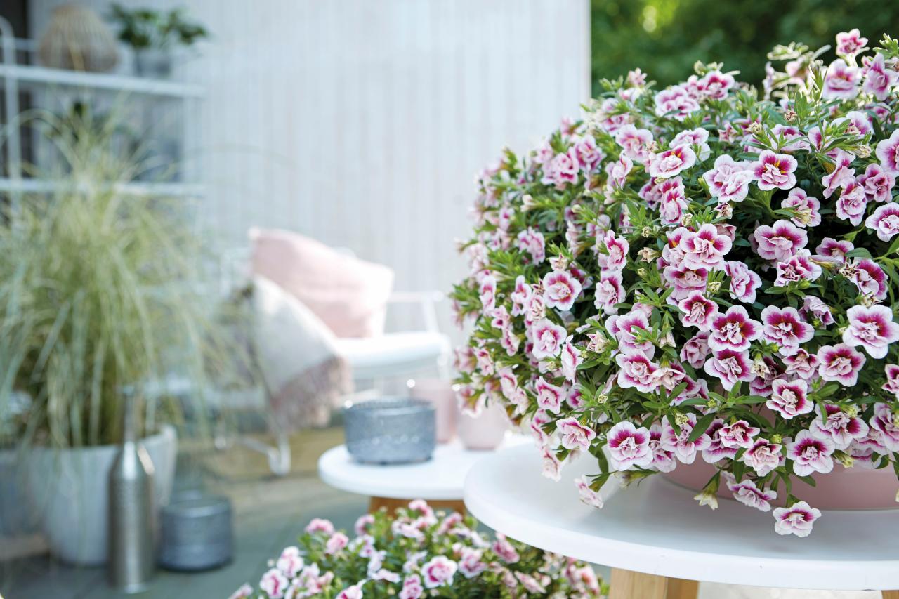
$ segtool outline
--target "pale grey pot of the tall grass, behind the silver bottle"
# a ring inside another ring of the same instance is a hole
[[[141,443],[155,469],[156,506],[172,495],[178,438],[173,426]],[[31,503],[50,552],[67,563],[99,566],[108,558],[109,471],[118,445],[82,449],[36,448],[26,460]]]

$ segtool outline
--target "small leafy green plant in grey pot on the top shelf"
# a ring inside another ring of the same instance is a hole
[[[110,19],[120,27],[119,40],[134,50],[139,76],[169,76],[176,45],[187,48],[209,37],[209,32],[200,23],[185,18],[182,8],[163,12],[112,4]]]

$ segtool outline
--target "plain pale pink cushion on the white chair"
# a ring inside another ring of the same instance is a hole
[[[253,273],[295,298],[338,337],[384,332],[393,271],[280,229],[251,228]]]

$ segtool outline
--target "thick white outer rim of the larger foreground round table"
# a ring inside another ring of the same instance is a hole
[[[498,459],[499,453],[494,458]],[[481,464],[485,460],[482,460]],[[536,473],[539,476],[539,472]],[[572,545],[571,535],[579,535],[585,541],[592,539],[591,535],[579,532],[565,531],[534,520],[520,519],[515,515],[503,511],[502,507],[494,505],[478,493],[476,484],[470,481],[478,476],[477,466],[469,470],[466,477],[464,501],[468,513],[472,514],[481,523],[495,531],[503,532],[512,539],[527,543],[542,550],[563,553],[575,559],[581,559],[592,563],[594,555],[586,553],[578,554],[578,551],[570,550]],[[563,483],[559,483],[563,484]],[[572,489],[574,493],[574,489]],[[610,501],[620,499],[613,497]],[[560,539],[563,539],[561,540]],[[814,542],[814,539],[806,539]],[[608,559],[603,559],[601,565],[610,568],[621,568],[645,574],[653,574],[663,577],[685,578],[703,582],[745,585],[745,586],[771,586],[760,584],[758,573],[762,569],[771,572],[779,571],[782,576],[788,577],[796,568],[809,567],[816,570],[822,569],[822,561],[806,559],[750,559],[744,560],[742,568],[734,568],[734,556],[702,553],[691,550],[669,549],[667,554],[659,554],[652,559],[647,559],[645,550],[647,546],[629,541],[606,540],[610,549]],[[581,543],[578,543],[581,545]],[[565,548],[565,549],[563,549]],[[653,548],[654,552],[658,548]],[[897,559],[884,559],[883,561],[837,561],[828,562],[826,582],[821,586],[799,586],[807,590],[896,590],[897,572],[899,572],[899,531],[897,531],[896,544]],[[690,564],[692,570],[685,572],[684,564]],[[861,577],[859,586],[859,571],[865,572]],[[852,580],[852,584],[841,582],[845,579]],[[789,588],[784,586],[783,588]]]

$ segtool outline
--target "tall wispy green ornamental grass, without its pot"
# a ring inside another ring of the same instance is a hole
[[[169,422],[184,413],[160,390],[165,380],[191,380],[188,399],[200,407],[211,375],[223,384],[234,364],[236,347],[209,309],[214,260],[191,204],[133,183],[146,150],[114,113],[95,118],[76,107],[23,119],[60,159],[42,173],[51,192],[3,208],[0,413],[9,417],[0,435],[58,447],[117,443],[122,402],[141,399],[143,432],[152,433],[160,408]],[[27,418],[16,417],[23,397]]]

